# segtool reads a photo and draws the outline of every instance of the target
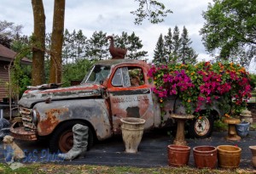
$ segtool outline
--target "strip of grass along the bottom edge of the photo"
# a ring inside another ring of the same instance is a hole
[[[253,173],[252,170],[228,171],[228,170],[210,170],[196,169],[186,167],[157,167],[157,168],[137,168],[128,166],[67,166],[55,164],[31,164],[22,166],[12,171],[9,166],[0,164],[0,173],[2,174],[169,174],[169,173],[198,173],[198,174],[230,174],[230,173]]]

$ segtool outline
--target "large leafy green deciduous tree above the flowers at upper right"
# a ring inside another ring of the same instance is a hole
[[[219,59],[249,65],[256,53],[256,6],[254,0],[213,0],[203,18],[201,29],[209,53],[219,50]]]

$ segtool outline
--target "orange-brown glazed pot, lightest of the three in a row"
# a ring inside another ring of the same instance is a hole
[[[219,145],[218,166],[225,169],[236,169],[240,165],[241,148],[232,145]]]

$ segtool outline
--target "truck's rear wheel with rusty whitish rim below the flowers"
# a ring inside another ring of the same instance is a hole
[[[213,131],[213,115],[202,116],[189,121],[189,138],[209,138]]]

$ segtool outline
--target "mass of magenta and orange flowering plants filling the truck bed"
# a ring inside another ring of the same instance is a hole
[[[233,63],[153,65],[148,76],[154,80],[153,92],[159,97],[161,107],[166,98],[176,95],[187,114],[199,113],[202,104],[211,106],[218,101],[225,115],[236,115],[251,97],[248,72]]]

